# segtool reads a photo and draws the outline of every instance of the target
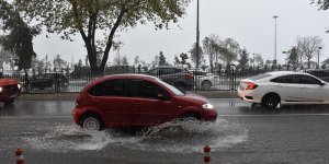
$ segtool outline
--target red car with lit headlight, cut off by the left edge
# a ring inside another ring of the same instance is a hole
[[[12,104],[21,95],[22,84],[13,79],[2,78],[0,72],[0,102]]]

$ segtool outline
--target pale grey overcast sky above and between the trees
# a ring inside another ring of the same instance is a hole
[[[200,0],[201,40],[209,34],[222,38],[234,38],[250,54],[261,54],[263,59],[274,58],[274,19],[277,15],[277,60],[284,62],[282,54],[296,43],[297,36],[319,36],[324,40],[320,60],[329,58],[329,11],[318,11],[309,0]],[[155,31],[151,23],[139,25],[121,35],[124,43],[121,55],[133,63],[135,56],[146,62],[154,60],[163,51],[171,63],[174,55],[188,52],[195,43],[196,0],[186,10],[186,15],[178,24],[171,24],[169,31]],[[180,27],[178,27],[178,25]],[[79,36],[79,35],[78,35]],[[58,36],[45,38],[39,35],[34,40],[39,58],[55,54],[71,62],[86,56],[83,42],[79,37],[73,43],[63,42]],[[110,61],[117,52],[111,51]],[[251,56],[251,55],[250,55]],[[316,61],[316,59],[313,59]]]

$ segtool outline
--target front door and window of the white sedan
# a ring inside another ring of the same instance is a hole
[[[300,101],[320,103],[328,98],[328,90],[326,85],[310,75],[298,74],[296,75],[296,84],[299,85]]]

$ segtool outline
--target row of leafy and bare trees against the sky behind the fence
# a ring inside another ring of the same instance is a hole
[[[102,74],[109,63],[110,50],[120,48],[118,31],[127,31],[138,24],[151,22],[155,28],[168,28],[185,14],[191,0],[61,0],[61,1],[25,1],[0,0],[0,21],[3,35],[0,37],[1,66],[4,62],[18,66],[19,70],[32,68],[32,60],[37,55],[33,49],[33,38],[41,34],[42,27],[46,33],[57,34],[61,39],[71,40],[79,35],[84,42],[88,65],[94,74]],[[310,0],[319,10],[327,10],[329,0]],[[34,25],[33,25],[34,24]],[[99,39],[98,35],[104,36]],[[322,42],[317,36],[299,37],[296,45],[287,49],[286,66],[302,67],[303,61],[319,55]],[[202,50],[196,55],[196,45],[189,51],[174,57],[174,65],[195,65],[200,61],[202,68],[217,66],[227,67],[238,62],[238,68],[266,67],[273,61],[262,60],[262,55],[251,54],[241,48],[232,38],[220,39],[209,35],[202,40]],[[4,52],[5,51],[5,52]],[[8,52],[14,57],[5,58]],[[249,57],[252,56],[252,57]],[[155,59],[163,63],[164,56]],[[196,59],[198,57],[200,59]],[[118,59],[114,63],[126,62]],[[189,63],[191,61],[192,63]],[[273,65],[273,63],[272,63]],[[319,67],[319,66],[318,66]]]

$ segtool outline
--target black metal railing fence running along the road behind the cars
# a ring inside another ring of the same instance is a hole
[[[242,79],[248,77],[257,75],[259,73],[264,73],[264,70],[223,70],[219,72],[204,72],[204,74],[194,74],[193,86],[190,90],[196,91],[236,91]],[[310,74],[314,74],[327,82],[329,82],[329,70],[308,70],[306,71]],[[115,73],[134,73],[132,71],[120,72],[118,70]],[[140,72],[139,72],[140,73]],[[67,75],[68,74],[68,75]],[[173,79],[179,79],[179,74],[171,75]],[[7,78],[12,78],[21,81],[23,83],[23,93],[24,94],[39,94],[39,93],[77,93],[80,92],[89,82],[91,82],[94,77],[91,73],[84,72],[83,74],[69,74],[69,73],[47,73],[42,75],[32,75],[25,78],[25,75],[5,75]],[[157,75],[159,79],[166,81],[164,75]],[[169,75],[170,77],[170,75]],[[169,79],[170,81],[170,79]]]

